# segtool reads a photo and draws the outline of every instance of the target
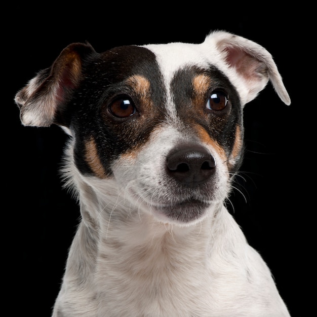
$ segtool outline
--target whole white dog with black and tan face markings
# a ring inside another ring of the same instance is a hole
[[[226,201],[243,109],[271,54],[225,30],[199,44],[72,43],[15,96],[25,126],[68,135],[63,184],[81,219],[53,317],[287,317]]]

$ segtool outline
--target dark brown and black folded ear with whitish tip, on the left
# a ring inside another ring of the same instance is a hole
[[[67,126],[64,105],[81,81],[83,61],[95,50],[90,44],[68,45],[50,68],[39,72],[17,92],[15,102],[25,126]]]

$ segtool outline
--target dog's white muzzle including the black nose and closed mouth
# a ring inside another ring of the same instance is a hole
[[[144,151],[140,156],[145,159],[135,160],[137,167],[129,158],[127,168],[119,161],[116,170],[122,184],[128,184],[125,193],[138,210],[144,207],[159,221],[190,224],[202,220],[212,205],[224,199],[228,180],[221,176],[223,167],[217,166],[217,157],[207,147],[184,142],[170,148],[164,158],[155,155],[154,146]]]

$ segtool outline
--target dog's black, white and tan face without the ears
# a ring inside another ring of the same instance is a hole
[[[168,78],[157,56],[128,46],[87,67],[72,106],[76,166],[114,178],[160,220],[187,223],[228,193],[242,151],[242,107],[214,65],[185,60]]]

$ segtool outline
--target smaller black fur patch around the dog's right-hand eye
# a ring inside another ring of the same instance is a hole
[[[205,98],[199,99],[195,98],[199,92],[195,91],[192,81],[201,75],[210,79],[210,86]],[[239,95],[228,78],[213,65],[208,69],[188,66],[175,74],[171,88],[177,114],[185,123],[186,130],[193,124],[199,124],[229,156],[236,138],[236,126],[240,125],[241,129],[243,126],[243,113]],[[225,92],[229,101],[224,110],[210,111],[206,109],[206,103],[212,92],[217,90]]]

